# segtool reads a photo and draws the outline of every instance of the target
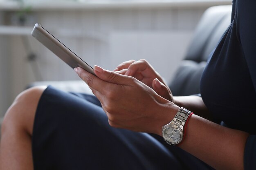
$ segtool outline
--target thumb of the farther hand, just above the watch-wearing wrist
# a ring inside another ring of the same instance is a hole
[[[153,80],[152,87],[153,87],[153,90],[161,97],[164,97],[167,100],[171,99],[168,88],[162,82],[160,82],[157,78]]]

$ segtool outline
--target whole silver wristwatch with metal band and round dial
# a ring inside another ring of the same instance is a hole
[[[180,108],[173,120],[162,127],[162,136],[168,144],[177,145],[182,141],[184,137],[184,126],[191,113],[191,111],[185,108]]]

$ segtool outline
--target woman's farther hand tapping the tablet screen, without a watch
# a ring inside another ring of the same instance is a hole
[[[153,88],[158,95],[173,102],[173,95],[170,88],[146,60],[129,60],[123,62],[114,71],[119,74],[135,77],[150,88]]]

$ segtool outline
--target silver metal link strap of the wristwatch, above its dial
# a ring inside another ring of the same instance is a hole
[[[191,113],[191,111],[181,107],[180,110],[176,113],[173,120],[170,122],[170,124],[175,124],[183,130],[183,127],[186,124],[186,120],[189,118],[189,115]]]

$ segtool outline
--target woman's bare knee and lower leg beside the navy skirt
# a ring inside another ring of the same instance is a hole
[[[0,170],[33,170],[31,134],[46,86],[23,91],[7,110],[1,128]]]

